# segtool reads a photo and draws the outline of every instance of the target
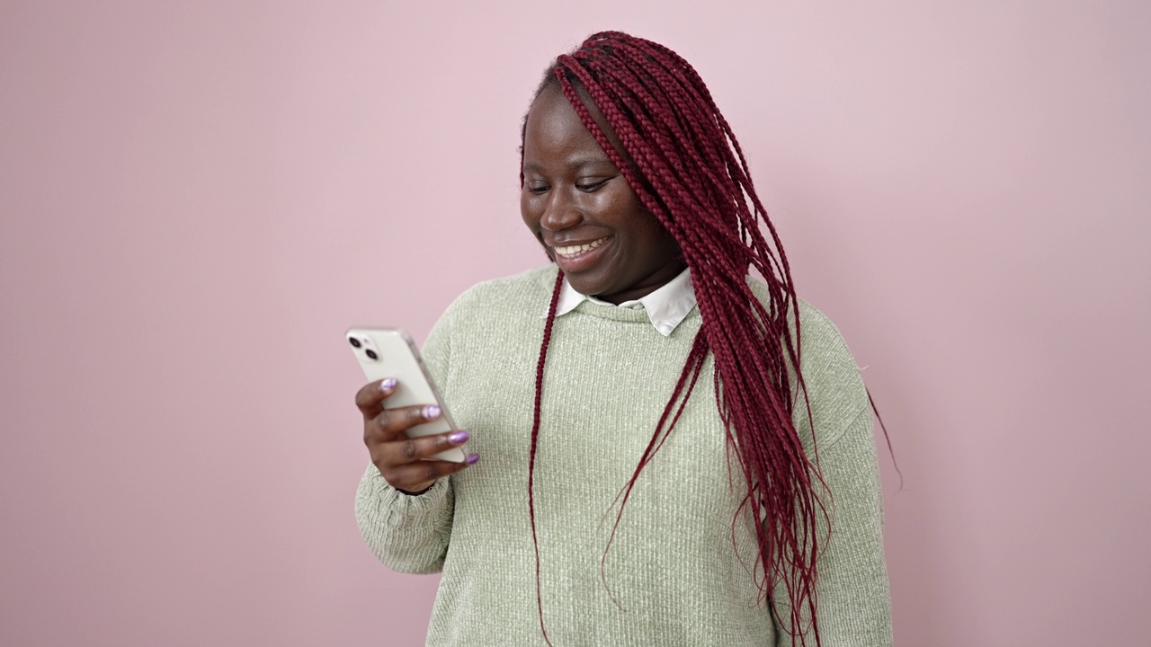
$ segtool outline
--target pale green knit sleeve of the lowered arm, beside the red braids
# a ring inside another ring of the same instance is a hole
[[[891,647],[891,594],[883,549],[883,494],[871,409],[855,359],[834,326],[815,309],[801,311],[803,378],[815,423],[815,456],[826,486],[816,486],[831,532],[818,522],[816,614],[823,647]],[[811,345],[809,345],[811,342]],[[811,455],[811,428],[802,399],[796,431]],[[772,595],[787,618],[787,592]],[[778,617],[777,617],[778,622]],[[780,645],[791,645],[786,631]]]

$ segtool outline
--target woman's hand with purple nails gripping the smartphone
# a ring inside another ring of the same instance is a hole
[[[417,439],[407,437],[409,427],[440,417],[435,404],[386,409],[384,399],[396,390],[396,380],[368,382],[356,394],[356,406],[364,414],[364,444],[372,464],[391,487],[405,494],[421,494],[440,477],[455,474],[479,460],[471,454],[464,463],[435,460],[433,456],[464,444],[467,432],[455,431]]]

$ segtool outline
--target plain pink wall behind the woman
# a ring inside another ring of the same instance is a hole
[[[0,644],[421,644],[341,334],[543,260],[519,120],[608,28],[867,366],[898,644],[1145,644],[1149,5],[570,5],[0,6]]]

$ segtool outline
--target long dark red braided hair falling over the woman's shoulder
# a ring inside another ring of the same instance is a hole
[[[671,398],[620,493],[616,527],[640,472],[674,428],[710,352],[716,367],[716,405],[747,482],[735,518],[750,511],[761,522],[754,526],[759,541],[756,566],[763,570],[753,569],[761,596],[777,612],[770,593],[782,585],[787,594],[790,622],[779,618],[779,624],[791,634],[792,645],[806,646],[808,635],[820,645],[815,614],[821,546],[817,520],[821,516],[825,519],[826,513],[815,492],[818,471],[792,423],[795,393],[803,395],[811,419],[799,371],[798,315],[794,334],[788,326],[788,313],[796,314],[799,304],[787,257],[752,185],[735,135],[687,61],[662,45],[625,33],[609,31],[588,37],[579,50],[556,60],[536,97],[548,85],[563,90],[643,206],[679,244],[692,272],[702,319]],[[622,150],[593,119],[586,101],[603,114]],[[767,228],[770,241],[761,226]],[[750,269],[767,283],[765,304],[747,283]],[[543,627],[532,487],[544,360],[562,280],[563,273],[556,279],[536,367],[528,462],[536,603],[544,640],[548,635]],[[788,366],[794,368],[794,385],[788,379]],[[608,549],[610,546],[609,540]]]

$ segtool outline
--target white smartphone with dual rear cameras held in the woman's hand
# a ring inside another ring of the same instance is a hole
[[[345,337],[369,381],[395,378],[399,382],[386,401],[389,409],[414,404],[440,405],[440,417],[409,428],[407,437],[441,434],[456,428],[411,335],[398,328],[352,327]],[[467,452],[464,446],[459,446],[441,451],[434,458],[463,463]]]

